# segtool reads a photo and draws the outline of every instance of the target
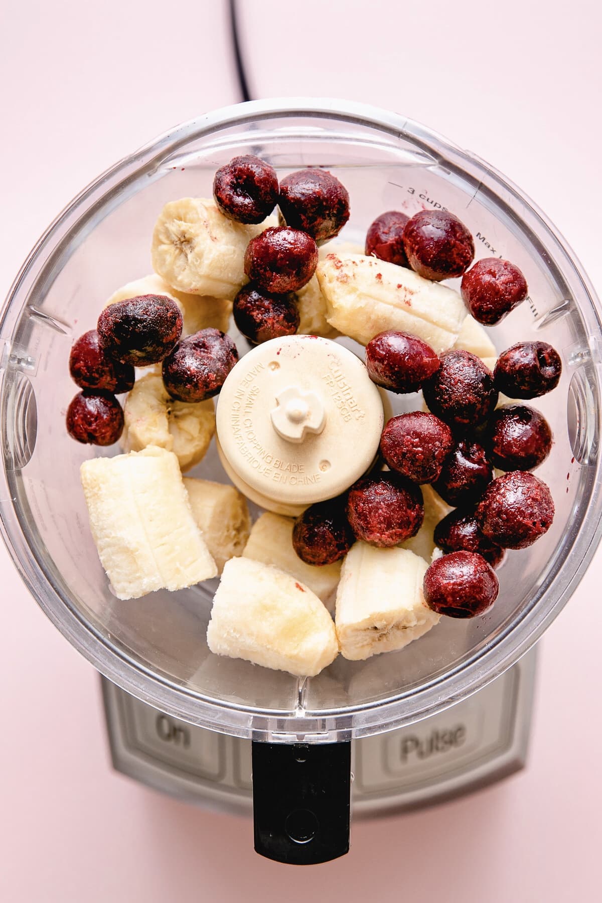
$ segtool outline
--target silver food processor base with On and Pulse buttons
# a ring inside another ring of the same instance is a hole
[[[352,813],[403,812],[523,768],[536,652],[440,714],[352,742]],[[251,740],[179,721],[102,680],[113,766],[189,803],[250,815]]]

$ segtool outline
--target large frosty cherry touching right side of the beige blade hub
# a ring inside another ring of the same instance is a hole
[[[381,454],[391,470],[414,483],[432,483],[438,479],[453,447],[448,424],[423,411],[392,417],[384,427],[380,443]]]

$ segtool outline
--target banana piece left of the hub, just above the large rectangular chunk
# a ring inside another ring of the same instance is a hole
[[[194,405],[173,401],[156,373],[135,382],[125,399],[124,421],[125,452],[158,445],[176,455],[181,470],[190,470],[205,457],[216,431],[212,398]]]

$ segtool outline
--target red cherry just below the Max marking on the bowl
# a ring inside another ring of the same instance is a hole
[[[462,276],[461,292],[475,320],[493,326],[524,301],[529,289],[518,266],[485,257]]]

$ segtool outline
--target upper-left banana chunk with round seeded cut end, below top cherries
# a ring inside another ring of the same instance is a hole
[[[228,219],[213,200],[171,200],[154,226],[153,270],[179,292],[233,301],[245,282],[246,246],[264,228]]]

